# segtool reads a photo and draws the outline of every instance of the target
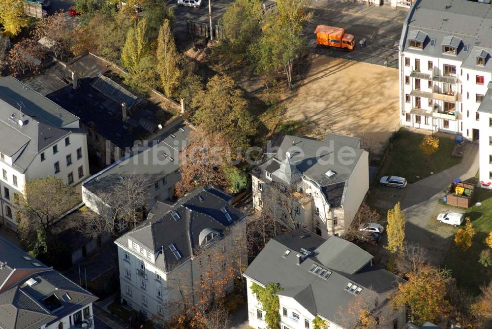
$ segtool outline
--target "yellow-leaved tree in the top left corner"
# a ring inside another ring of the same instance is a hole
[[[0,24],[3,27],[3,32],[8,36],[19,34],[22,28],[29,25],[23,5],[23,0],[0,1]]]

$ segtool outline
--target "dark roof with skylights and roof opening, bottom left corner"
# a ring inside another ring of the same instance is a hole
[[[30,260],[23,257],[29,257]],[[27,253],[1,237],[0,261],[7,262],[7,266],[3,266],[3,269],[39,271],[34,274],[23,274],[19,277],[19,282],[9,285],[6,290],[0,289],[0,329],[37,329],[62,319],[97,299],[60,272],[32,259]],[[39,263],[40,266],[34,266],[33,262]],[[0,275],[2,275],[1,270]],[[30,279],[36,282],[31,287],[26,284]],[[2,283],[0,282],[0,288]],[[64,301],[62,299],[64,294],[68,294],[70,300]],[[46,297],[53,295],[60,300],[62,306],[56,310],[50,310],[44,302]]]

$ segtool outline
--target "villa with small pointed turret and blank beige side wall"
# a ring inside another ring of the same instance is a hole
[[[293,220],[323,237],[340,235],[369,190],[369,153],[355,137],[284,136],[278,148],[267,150],[266,162],[251,171],[251,181],[256,212]],[[287,188],[297,203],[277,205],[275,191]]]

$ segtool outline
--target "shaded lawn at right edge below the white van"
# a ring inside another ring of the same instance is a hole
[[[475,200],[482,201],[481,207],[470,207],[465,216],[469,216],[476,231],[473,245],[461,251],[454,241],[446,255],[445,266],[452,270],[457,284],[473,294],[480,292],[480,286],[488,284],[492,279],[492,269],[478,263],[480,252],[487,248],[485,238],[492,231],[492,192],[475,188]]]

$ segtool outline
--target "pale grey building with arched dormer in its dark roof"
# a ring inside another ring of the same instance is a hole
[[[227,282],[221,289],[232,291],[233,277],[221,275],[247,264],[246,215],[230,202],[210,186],[155,203],[146,221],[115,241],[122,303],[163,323],[211,296],[206,282]]]

